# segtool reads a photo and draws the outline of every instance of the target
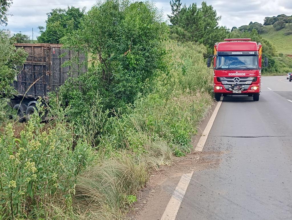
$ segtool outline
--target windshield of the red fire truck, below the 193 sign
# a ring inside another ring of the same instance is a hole
[[[257,55],[219,55],[217,56],[216,68],[218,69],[256,69],[258,68]]]

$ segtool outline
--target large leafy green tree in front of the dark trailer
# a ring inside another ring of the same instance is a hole
[[[99,94],[104,108],[111,109],[151,91],[153,79],[166,71],[167,26],[162,20],[149,2],[108,0],[93,7],[80,28],[62,39],[64,47],[87,53],[91,60],[86,75],[68,85],[65,98],[73,103],[73,91],[87,100]]]

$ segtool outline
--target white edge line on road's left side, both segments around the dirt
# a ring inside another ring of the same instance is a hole
[[[204,148],[204,145],[206,143],[206,140],[208,138],[208,134],[213,126],[213,123],[215,121],[216,115],[219,111],[219,108],[222,104],[222,101],[219,101],[208,121],[208,124],[206,128],[203,131],[203,134],[201,135],[201,138],[195,148],[195,151],[202,151]],[[161,217],[161,220],[175,220],[176,215],[178,214],[178,209],[180,208],[180,204],[183,201],[183,198],[185,196],[185,192],[187,191],[187,187],[190,184],[190,181],[192,179],[194,171],[188,174],[183,174],[181,176],[180,181],[178,182],[178,185],[176,186],[172,197],[170,198],[164,213]]]

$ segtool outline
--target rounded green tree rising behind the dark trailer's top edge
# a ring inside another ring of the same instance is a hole
[[[47,15],[46,28],[39,26],[41,35],[37,39],[40,43],[59,44],[62,37],[79,28],[84,9],[68,6],[67,9],[53,9]]]

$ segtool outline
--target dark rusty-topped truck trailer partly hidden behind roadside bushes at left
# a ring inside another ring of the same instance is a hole
[[[34,112],[37,100],[48,101],[48,93],[56,91],[69,77],[78,77],[86,67],[84,54],[64,49],[61,44],[15,44],[29,55],[15,77],[13,87],[17,95],[11,99],[11,107],[17,110],[19,121]],[[63,67],[65,61],[79,58],[74,67]]]

